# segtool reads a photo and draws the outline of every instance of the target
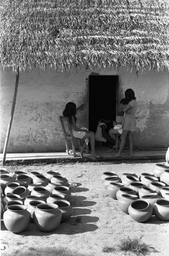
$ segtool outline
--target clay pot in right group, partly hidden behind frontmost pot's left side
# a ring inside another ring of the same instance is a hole
[[[131,194],[122,194],[118,199],[119,208],[125,213],[128,214],[128,207],[134,200],[137,200],[138,197],[136,195]]]

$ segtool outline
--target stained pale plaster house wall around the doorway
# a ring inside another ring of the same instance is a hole
[[[93,70],[100,75],[119,75],[119,101],[132,88],[138,101],[136,147],[168,147],[169,86],[167,72],[131,73],[126,69]],[[86,108],[78,116],[79,125],[88,126],[87,78],[90,71],[23,72],[19,78],[15,113],[8,153],[59,152],[65,150],[59,116],[69,101]],[[1,71],[1,152],[11,112],[15,87],[12,70]],[[120,105],[119,105],[120,110]]]

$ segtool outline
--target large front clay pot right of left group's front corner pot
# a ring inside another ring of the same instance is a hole
[[[56,229],[62,220],[62,212],[57,204],[38,204],[33,214],[34,223],[42,231]]]

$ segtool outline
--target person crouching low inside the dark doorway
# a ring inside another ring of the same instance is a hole
[[[96,141],[101,141],[104,143],[109,142],[113,143],[114,141],[111,139],[109,134],[106,132],[107,124],[109,124],[111,121],[109,119],[101,119],[97,125],[96,133],[95,133],[95,139]]]

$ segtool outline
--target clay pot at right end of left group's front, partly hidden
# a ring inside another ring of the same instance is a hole
[[[70,203],[67,200],[60,199],[60,200],[54,201],[53,204],[57,204],[59,209],[62,212],[61,222],[68,221],[70,219],[70,217],[72,215],[72,211],[73,211],[73,208],[70,205]]]

